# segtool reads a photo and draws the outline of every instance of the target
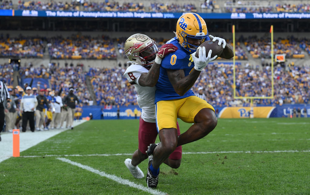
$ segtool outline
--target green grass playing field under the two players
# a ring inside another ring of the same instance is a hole
[[[309,118],[219,119],[183,146],[178,169],[161,166],[153,191],[124,164],[138,126],[94,120],[51,137],[0,163],[0,194],[310,194]],[[147,160],[139,167],[146,175]]]

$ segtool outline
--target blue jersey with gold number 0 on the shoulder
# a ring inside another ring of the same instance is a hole
[[[210,40],[207,37],[207,40]],[[195,95],[192,90],[188,90],[183,96],[180,96],[175,92],[173,86],[171,85],[166,69],[179,70],[183,69],[185,76],[187,76],[194,68],[194,63],[189,61],[188,50],[185,50],[178,42],[177,38],[174,37],[167,43],[171,43],[178,47],[178,50],[168,54],[164,59],[162,59],[162,64],[159,72],[159,79],[156,84],[155,92],[155,104],[162,100],[173,100],[187,98],[189,96]]]

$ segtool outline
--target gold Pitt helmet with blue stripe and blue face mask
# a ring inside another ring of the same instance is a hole
[[[189,52],[193,53],[198,46],[188,43],[188,38],[202,39],[200,44],[208,37],[207,25],[204,19],[196,13],[186,13],[182,15],[176,25],[176,37],[179,43]]]

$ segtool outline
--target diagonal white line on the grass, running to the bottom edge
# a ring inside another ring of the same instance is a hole
[[[98,174],[98,175],[100,175],[100,176],[102,176],[102,177],[106,177],[106,178],[108,178],[108,179],[110,179],[110,180],[114,180],[114,181],[116,181],[117,183],[120,183],[120,184],[123,184],[123,185],[129,185],[130,187],[143,190],[143,191],[148,192],[148,193],[150,193],[150,194],[155,194],[155,195],[165,195],[165,194],[167,194],[167,193],[158,191],[158,190],[156,190],[156,189],[147,188],[147,187],[145,187],[145,186],[143,186],[143,185],[141,185],[141,184],[136,184],[136,183],[131,182],[131,181],[129,181],[129,180],[122,179],[122,178],[117,177],[117,176],[115,176],[115,175],[107,174],[107,173],[105,173],[105,172],[103,172],[103,171],[96,170],[96,169],[94,169],[94,168],[92,168],[92,167],[89,167],[89,166],[87,166],[87,165],[82,165],[82,164],[80,164],[80,163],[73,162],[73,161],[71,161],[71,160],[69,160],[69,159],[67,159],[67,158],[57,158],[57,159],[58,159],[58,160],[61,160],[61,161],[63,161],[63,162],[65,162],[65,163],[69,163],[69,164],[72,164],[72,165],[74,165],[74,166],[77,166],[77,167],[80,167],[80,168],[82,168],[82,169],[85,169],[85,170],[87,170],[87,171],[91,171],[91,172],[93,172],[93,173],[95,173],[95,174]]]

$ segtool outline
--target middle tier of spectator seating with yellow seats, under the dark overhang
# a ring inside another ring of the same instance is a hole
[[[1,57],[43,58],[45,48],[51,59],[117,59],[117,52],[124,53],[124,43],[127,37],[111,39],[108,36],[82,36],[73,34],[67,38],[33,38],[12,37],[0,39]],[[168,41],[165,38],[154,38],[160,48]],[[47,44],[45,43],[47,42]],[[232,45],[232,40],[226,40]],[[274,54],[286,54],[286,58],[305,58],[310,54],[308,39],[295,37],[274,39]],[[244,46],[242,46],[244,44]],[[243,48],[246,48],[245,51]],[[270,38],[258,38],[256,36],[241,38],[236,41],[236,59],[246,60],[248,55],[253,58],[271,58]],[[125,55],[123,55],[126,58]]]

